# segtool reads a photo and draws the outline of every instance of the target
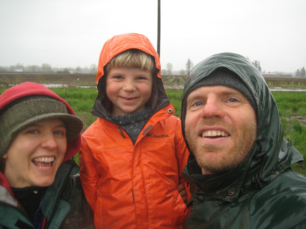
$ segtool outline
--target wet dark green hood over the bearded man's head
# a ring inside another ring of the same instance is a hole
[[[247,85],[256,101],[257,136],[248,160],[235,171],[244,178],[246,188],[262,187],[290,165],[303,161],[303,156],[283,138],[281,119],[275,100],[263,76],[244,56],[235,53],[219,53],[197,64],[188,74],[182,98],[182,132],[185,138],[186,100],[192,85],[207,77],[215,69],[225,67],[236,73]],[[185,138],[190,151],[190,147]],[[192,151],[189,159],[194,158]],[[242,182],[242,181],[241,181]]]

